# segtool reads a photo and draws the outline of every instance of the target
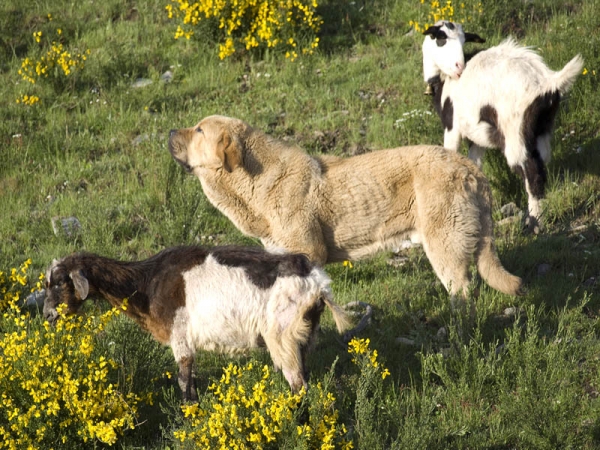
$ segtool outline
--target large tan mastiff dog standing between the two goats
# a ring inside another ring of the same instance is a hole
[[[521,292],[521,279],[496,254],[489,184],[460,154],[419,145],[310,156],[223,116],[172,130],[169,150],[200,179],[210,202],[267,248],[325,264],[410,238],[423,244],[451,294],[466,293],[473,260],[491,287]]]

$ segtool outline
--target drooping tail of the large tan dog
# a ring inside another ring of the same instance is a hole
[[[486,189],[488,205],[491,205],[489,186]],[[523,295],[523,281],[521,278],[508,272],[496,252],[494,245],[494,222],[489,207],[484,207],[480,212],[481,239],[479,241],[476,261],[477,270],[481,277],[494,289],[508,295]]]

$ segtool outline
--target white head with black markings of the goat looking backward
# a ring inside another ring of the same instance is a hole
[[[463,46],[466,42],[485,42],[474,33],[465,33],[462,25],[440,20],[423,32],[423,77],[430,82],[436,76],[460,78],[465,69]]]

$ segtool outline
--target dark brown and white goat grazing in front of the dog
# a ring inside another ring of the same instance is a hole
[[[332,301],[330,279],[304,255],[247,247],[174,247],[139,262],[79,253],[55,260],[46,275],[44,317],[57,306],[76,312],[88,297],[112,305],[170,345],[184,399],[196,400],[196,349],[266,347],[292,390],[306,386],[305,357],[328,306],[341,332],[344,311]]]

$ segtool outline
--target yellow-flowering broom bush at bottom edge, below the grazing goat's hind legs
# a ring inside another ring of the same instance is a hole
[[[292,447],[352,448],[347,430],[338,423],[335,397],[321,383],[291,393],[279,390],[268,366],[229,364],[219,382],[208,387],[200,402],[182,407],[184,427],[175,438],[190,448],[266,449]],[[308,422],[299,417],[308,410]]]

